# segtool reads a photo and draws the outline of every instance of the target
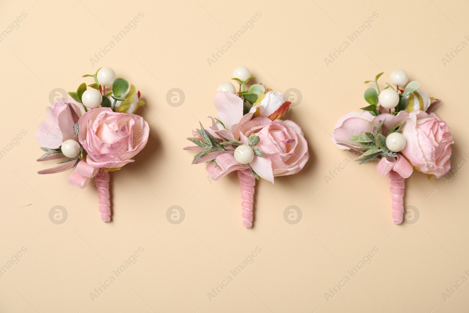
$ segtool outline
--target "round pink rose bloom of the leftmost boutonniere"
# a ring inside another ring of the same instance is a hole
[[[148,141],[150,128],[143,117],[113,112],[109,107],[92,109],[78,121],[78,141],[86,150],[86,162],[96,168],[120,168],[139,153]]]

